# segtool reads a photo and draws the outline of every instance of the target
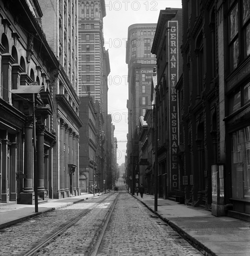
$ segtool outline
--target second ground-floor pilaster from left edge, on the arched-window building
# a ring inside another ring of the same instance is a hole
[[[17,172],[17,143],[13,142],[11,144],[10,150],[11,159],[11,170],[10,170],[10,201],[16,201],[17,199],[17,182],[16,182],[16,172]]]

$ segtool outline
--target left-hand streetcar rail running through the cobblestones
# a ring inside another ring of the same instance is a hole
[[[107,197],[105,197],[103,200],[101,200],[98,203],[103,203],[105,200],[107,200],[110,196],[112,195],[108,195]],[[115,202],[117,200],[118,196],[115,199]],[[41,243],[39,243],[37,246],[35,246],[33,249],[29,250],[26,254],[24,254],[24,256],[32,256],[34,255],[36,252],[39,252],[40,249],[46,247],[48,244],[50,244],[52,242],[52,240],[54,240],[55,238],[57,238],[58,236],[60,236],[61,234],[63,234],[67,229],[69,229],[70,227],[72,227],[76,222],[78,222],[82,217],[86,216],[88,213],[90,213],[93,209],[96,208],[96,205],[92,206],[92,208],[90,209],[86,209],[84,210],[84,212],[82,214],[80,214],[79,216],[77,216],[76,218],[74,218],[72,221],[68,222],[66,224],[66,226],[64,226],[63,228],[59,229],[58,231],[56,231],[53,235],[45,238],[45,240],[43,240]]]

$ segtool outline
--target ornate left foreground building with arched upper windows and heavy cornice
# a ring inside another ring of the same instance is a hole
[[[42,15],[35,0],[0,0],[1,202],[34,204],[36,175],[39,201],[53,198],[59,61],[46,41]]]

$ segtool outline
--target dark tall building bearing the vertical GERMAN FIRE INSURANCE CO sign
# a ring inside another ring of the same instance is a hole
[[[182,9],[161,10],[151,52],[157,58],[155,110],[157,119],[158,196],[171,198],[182,189],[178,167],[178,94],[182,71]],[[184,198],[184,195],[183,195]]]

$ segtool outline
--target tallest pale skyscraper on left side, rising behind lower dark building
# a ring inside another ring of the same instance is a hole
[[[110,73],[108,51],[104,48],[103,18],[106,16],[105,1],[79,0],[79,96],[90,95],[96,104],[95,113],[98,130],[98,147],[96,159],[97,184],[103,188],[104,176],[107,171],[108,158],[107,136],[111,122],[108,111],[108,84]],[[80,106],[83,108],[83,106]],[[86,111],[81,109],[81,111]],[[84,120],[83,120],[84,121]]]

